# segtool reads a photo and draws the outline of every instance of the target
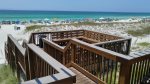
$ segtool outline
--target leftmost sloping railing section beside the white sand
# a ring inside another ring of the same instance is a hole
[[[7,46],[7,50],[5,50],[7,51],[6,58],[11,68],[13,70],[17,69],[18,71],[18,66],[20,66],[22,71],[25,73],[25,49],[19,45],[19,43],[11,35],[8,35],[7,43],[5,46]]]

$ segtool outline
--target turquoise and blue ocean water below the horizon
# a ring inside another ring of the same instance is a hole
[[[48,18],[67,20],[67,19],[85,19],[85,18],[143,18],[150,17],[150,13],[125,13],[125,12],[73,12],[73,11],[16,11],[0,10],[0,21],[3,20],[43,20]]]

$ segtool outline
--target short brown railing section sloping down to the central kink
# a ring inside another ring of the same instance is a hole
[[[71,46],[62,47],[52,41],[47,39],[43,39],[44,41],[44,51],[46,51],[49,55],[53,56],[60,63],[67,65],[71,62]]]

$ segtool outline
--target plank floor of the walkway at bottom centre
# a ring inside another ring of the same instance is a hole
[[[70,67],[69,69],[76,74],[76,83],[74,84],[96,84],[95,82],[93,82],[91,79],[83,75],[75,68]]]

